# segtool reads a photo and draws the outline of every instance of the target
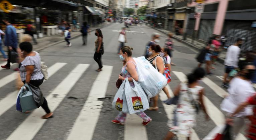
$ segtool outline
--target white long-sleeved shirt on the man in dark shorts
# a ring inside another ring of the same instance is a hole
[[[237,46],[229,46],[224,65],[238,68],[238,57],[240,54],[240,48]]]

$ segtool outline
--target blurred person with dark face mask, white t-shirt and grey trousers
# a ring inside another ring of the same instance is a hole
[[[227,117],[233,114],[239,104],[247,101],[249,97],[254,95],[255,90],[251,84],[255,67],[250,64],[240,66],[240,72],[237,77],[230,81],[228,88],[229,96],[227,96],[221,103],[221,109],[226,112]],[[252,115],[252,108],[245,107],[245,109],[234,115],[233,126],[231,128],[231,136],[236,139],[236,136],[244,126],[244,118]]]

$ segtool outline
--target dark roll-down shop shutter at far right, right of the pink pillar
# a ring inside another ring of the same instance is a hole
[[[226,20],[223,34],[228,37],[226,46],[236,43],[238,38],[244,39],[242,51],[256,49],[256,29],[251,28],[252,21]]]

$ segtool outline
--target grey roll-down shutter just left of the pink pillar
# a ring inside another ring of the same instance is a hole
[[[202,19],[199,27],[198,38],[205,42],[208,42],[209,38],[213,36],[214,23],[214,19]]]

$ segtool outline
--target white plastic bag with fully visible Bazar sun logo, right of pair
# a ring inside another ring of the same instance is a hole
[[[147,96],[144,93],[142,87],[134,79],[132,80],[134,83],[134,87],[130,85],[130,83],[128,82],[128,78],[127,78],[126,84],[124,85],[125,99],[126,99],[128,111],[130,114],[144,111],[149,108]]]

